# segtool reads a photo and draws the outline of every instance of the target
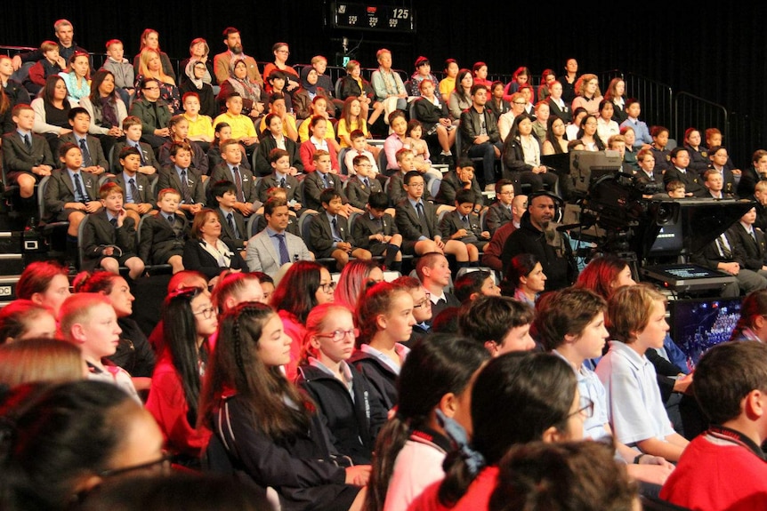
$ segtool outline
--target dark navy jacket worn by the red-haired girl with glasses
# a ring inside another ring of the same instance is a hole
[[[335,451],[355,464],[367,465],[375,437],[386,421],[386,409],[364,374],[352,368],[351,376],[353,401],[343,382],[312,365],[298,368],[295,383],[317,404]]]

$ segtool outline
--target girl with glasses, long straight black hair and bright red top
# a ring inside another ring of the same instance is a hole
[[[167,449],[182,465],[199,467],[210,432],[198,428],[202,377],[218,322],[210,295],[197,287],[171,292],[163,304],[163,343],[152,374],[147,410],[157,419]]]

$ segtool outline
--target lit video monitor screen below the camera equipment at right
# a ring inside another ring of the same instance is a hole
[[[671,339],[694,368],[709,347],[730,340],[740,319],[740,299],[680,299],[669,302]]]

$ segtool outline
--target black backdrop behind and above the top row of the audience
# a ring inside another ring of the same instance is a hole
[[[323,0],[182,2],[25,2],[0,11],[0,44],[37,46],[52,39],[52,22],[71,20],[78,44],[103,52],[118,37],[129,60],[138,51],[144,28],[155,28],[160,46],[172,58],[188,56],[191,39],[202,36],[211,52],[221,52],[222,29],[239,28],[248,54],[272,60],[271,45],[290,44],[288,63],[326,54],[331,64],[341,37],[363,67],[375,67],[375,50],[393,52],[394,67],[412,71],[418,55],[440,70],[452,57],[462,67],[477,60],[491,74],[510,74],[527,66],[561,72],[577,58],[580,72],[619,69],[722,104],[731,112],[762,119],[767,103],[763,3],[758,6],[703,3],[631,2],[601,4],[554,2],[392,2],[416,10],[416,35],[353,32],[329,28],[329,2]],[[540,5],[541,8],[537,8]],[[361,41],[361,43],[360,43]],[[767,132],[764,131],[763,132]],[[767,144],[764,144],[767,146]]]

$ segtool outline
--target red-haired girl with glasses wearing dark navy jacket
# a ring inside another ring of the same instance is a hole
[[[358,334],[350,309],[333,303],[311,309],[296,385],[317,404],[336,451],[369,464],[386,409],[365,375],[346,363]]]

